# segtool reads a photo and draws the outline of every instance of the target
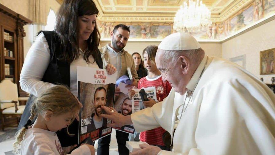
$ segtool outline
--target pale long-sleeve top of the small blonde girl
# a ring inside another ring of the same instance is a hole
[[[21,155],[64,155],[70,152],[71,146],[61,147],[55,132],[30,128],[21,143]],[[87,145],[81,145],[71,155],[91,155]]]

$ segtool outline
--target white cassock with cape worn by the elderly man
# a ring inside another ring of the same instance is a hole
[[[206,60],[207,56],[188,83],[189,90],[194,89]],[[161,126],[173,135],[184,99],[185,95],[172,89],[164,101],[131,114],[135,129],[141,132]],[[211,57],[174,133],[174,152],[158,154],[273,155],[274,103],[275,94],[254,75]]]

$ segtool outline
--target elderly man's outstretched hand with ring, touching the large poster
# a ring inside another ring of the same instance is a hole
[[[107,127],[133,124],[130,115],[124,116],[118,113],[113,107],[101,106],[101,108],[106,112],[106,114],[100,114],[100,116],[113,121],[113,123],[108,124]]]

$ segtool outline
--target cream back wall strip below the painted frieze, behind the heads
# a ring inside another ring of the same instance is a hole
[[[109,44],[111,41],[101,41],[101,47]],[[158,46],[161,42],[149,42],[149,41],[128,41],[125,46],[125,50],[130,54],[138,52],[142,56],[142,51],[149,45]],[[205,53],[209,56],[222,57],[222,45],[221,43],[204,43],[200,42],[201,47],[205,50]]]

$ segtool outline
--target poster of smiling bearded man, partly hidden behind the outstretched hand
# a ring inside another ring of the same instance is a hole
[[[132,113],[132,101],[128,96],[131,87],[127,87],[128,85],[125,83],[120,82],[118,88],[120,88],[120,93],[118,96],[115,97],[114,100],[114,109],[124,115],[130,115]],[[121,127],[113,127],[116,130],[120,130],[126,133],[134,133],[135,129],[133,125],[125,125]]]

